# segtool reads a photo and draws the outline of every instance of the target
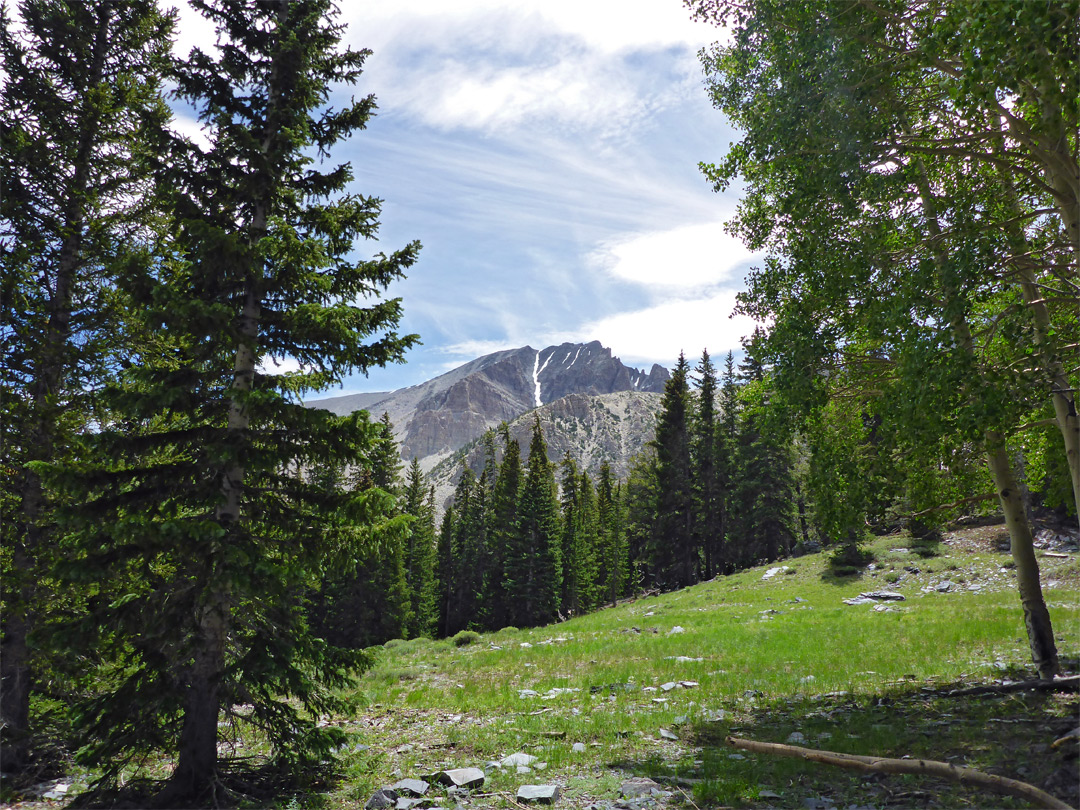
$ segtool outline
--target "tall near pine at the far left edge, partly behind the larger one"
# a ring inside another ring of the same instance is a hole
[[[161,129],[172,21],[153,2],[25,0],[0,8],[0,759],[25,764],[53,599],[53,494],[35,462],[72,461],[90,430],[85,392],[132,347],[113,280],[146,260],[146,130]],[[70,589],[68,589],[70,596]],[[65,656],[65,658],[70,658]]]

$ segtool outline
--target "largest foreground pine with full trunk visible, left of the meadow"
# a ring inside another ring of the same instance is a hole
[[[329,2],[194,4],[217,26],[220,56],[193,51],[174,80],[210,147],[161,145],[175,242],[150,272],[124,279],[175,352],[124,375],[113,399],[123,419],[95,436],[112,461],[82,476],[85,505],[72,515],[87,570],[148,572],[95,617],[126,666],[87,707],[83,727],[98,739],[85,753],[111,778],[175,741],[162,806],[212,789],[222,717],[257,727],[295,773],[343,740],[315,719],[338,706],[328,687],[363,657],[313,636],[300,595],[342,552],[377,541],[373,524],[392,502],[378,488],[308,480],[319,467],[369,465],[378,431],[300,396],[400,361],[415,341],[394,330],[400,301],[373,297],[418,245],[349,259],[354,240],[375,234],[380,203],[338,197],[348,166],[311,167],[374,110],[370,97],[325,106],[332,85],[356,81],[366,52],[338,48]],[[271,357],[306,370],[262,375]],[[230,713],[238,703],[251,713]]]

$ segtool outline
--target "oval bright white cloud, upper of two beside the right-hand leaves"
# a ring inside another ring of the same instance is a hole
[[[731,281],[758,254],[723,222],[686,225],[605,243],[591,262],[617,279],[654,287],[705,287]]]

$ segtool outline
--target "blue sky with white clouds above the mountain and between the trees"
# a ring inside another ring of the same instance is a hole
[[[599,340],[646,369],[740,348],[753,323],[731,311],[754,257],[724,230],[738,189],[718,194],[699,170],[737,137],[697,55],[720,29],[680,0],[340,5],[346,43],[373,52],[351,92],[378,112],[332,159],[383,200],[360,256],[423,245],[388,291],[422,345],[326,395],[522,346]],[[176,50],[213,41],[181,6]]]

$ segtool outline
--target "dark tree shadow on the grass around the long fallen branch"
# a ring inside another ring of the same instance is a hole
[[[1029,674],[1034,676],[1034,674]],[[618,767],[649,777],[705,810],[746,808],[1026,808],[1011,796],[941,779],[868,774],[753,754],[727,737],[846,754],[935,759],[1028,782],[1080,806],[1078,745],[1053,747],[1077,727],[1080,696],[1061,692],[954,696],[972,684],[893,685],[877,693],[834,692],[771,702],[735,700],[725,719],[697,721],[679,761],[650,757]]]

